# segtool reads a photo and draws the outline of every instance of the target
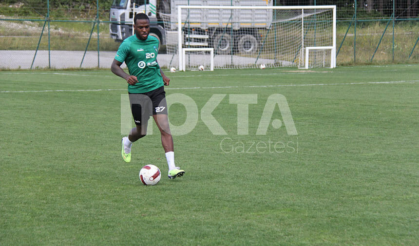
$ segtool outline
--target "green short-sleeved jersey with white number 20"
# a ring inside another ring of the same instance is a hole
[[[115,59],[127,64],[130,75],[138,82],[128,85],[130,93],[146,93],[163,86],[160,66],[157,63],[157,38],[149,36],[140,40],[135,35],[126,38],[118,48]]]

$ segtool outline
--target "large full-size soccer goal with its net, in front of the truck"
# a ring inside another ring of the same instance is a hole
[[[171,13],[164,18],[170,66],[197,69],[208,52],[183,60],[182,49],[213,48],[215,69],[336,67],[335,5],[178,5]]]

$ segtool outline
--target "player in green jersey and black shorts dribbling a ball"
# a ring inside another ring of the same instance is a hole
[[[169,178],[182,176],[185,171],[174,164],[173,138],[171,136],[166,93],[170,79],[164,75],[157,63],[158,40],[149,36],[150,19],[146,14],[136,14],[133,28],[135,35],[126,38],[118,48],[111,71],[128,83],[128,94],[135,126],[128,136],[122,138],[122,158],[131,161],[133,142],[147,133],[148,119],[152,115],[161,133],[161,142],[169,166]],[[125,62],[130,74],[122,70]]]

